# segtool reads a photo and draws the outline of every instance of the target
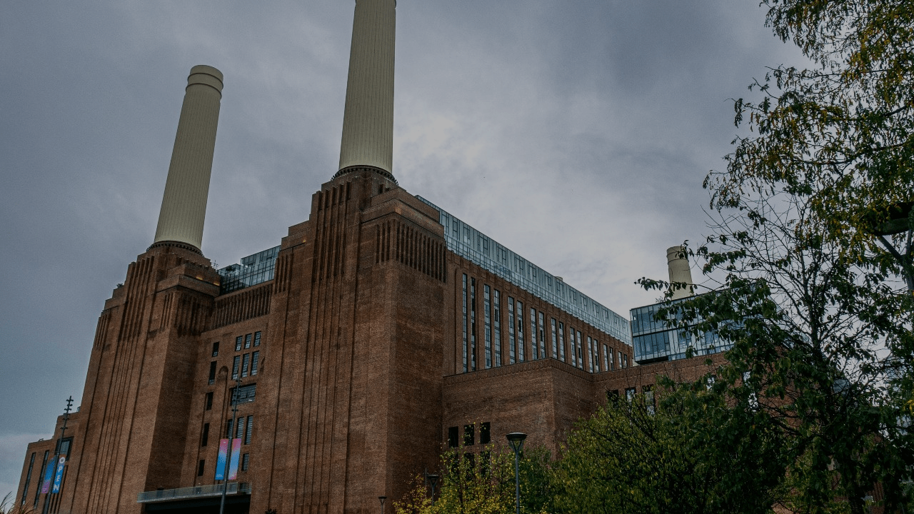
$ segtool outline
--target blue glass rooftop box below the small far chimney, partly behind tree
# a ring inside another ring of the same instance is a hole
[[[632,309],[632,347],[635,362],[649,364],[663,360],[685,359],[690,347],[692,355],[698,356],[727,351],[733,346],[713,332],[694,337],[685,330],[667,327],[667,321],[658,321],[655,317],[663,306],[664,304],[654,304]],[[678,315],[671,317],[670,321],[675,321],[676,316]]]

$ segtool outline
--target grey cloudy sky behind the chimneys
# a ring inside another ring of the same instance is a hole
[[[196,64],[225,74],[203,252],[279,244],[336,171],[352,0],[0,3],[0,496],[80,403],[153,241]],[[401,0],[402,187],[628,317],[706,233],[731,99],[799,61],[757,0]]]

